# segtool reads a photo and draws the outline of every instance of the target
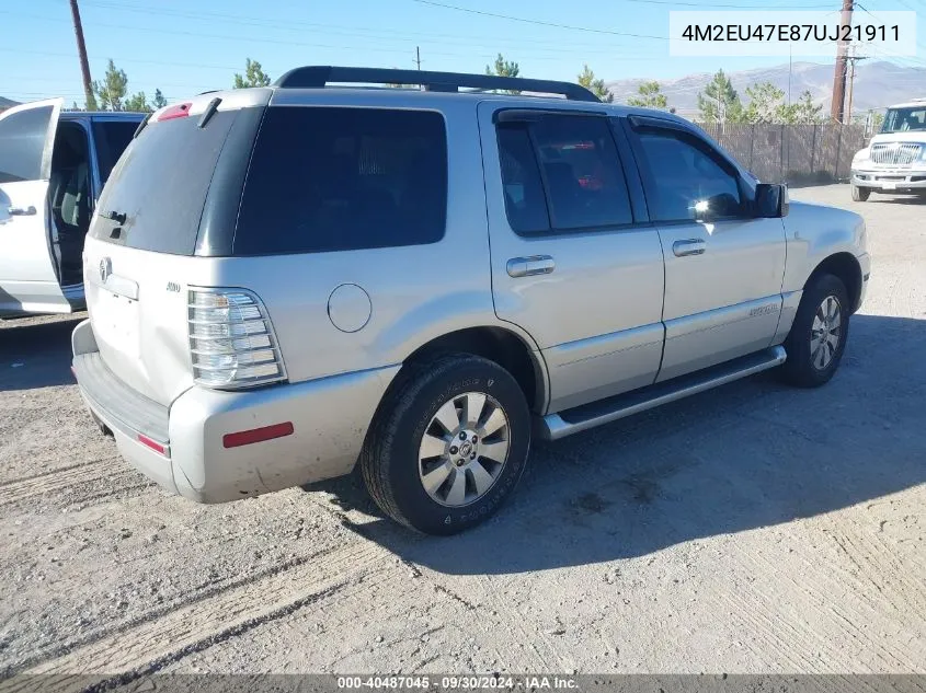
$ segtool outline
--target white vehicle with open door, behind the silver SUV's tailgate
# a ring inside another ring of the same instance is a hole
[[[0,317],[83,308],[81,254],[103,184],[144,113],[0,114]]]

